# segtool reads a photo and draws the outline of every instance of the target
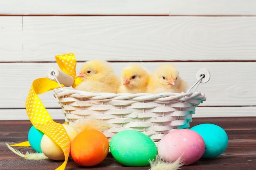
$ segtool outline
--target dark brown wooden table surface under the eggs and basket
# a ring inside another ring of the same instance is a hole
[[[63,123],[62,120],[58,122]],[[256,117],[193,118],[191,127],[197,124],[212,123],[226,130],[229,144],[225,152],[212,159],[200,159],[182,166],[182,170],[255,170],[256,169]],[[62,161],[25,160],[11,152],[5,145],[27,141],[30,121],[0,121],[0,170],[55,170]],[[30,147],[16,147],[24,153]],[[109,154],[97,166],[82,167],[72,159],[65,170],[149,170],[150,167],[125,167]]]

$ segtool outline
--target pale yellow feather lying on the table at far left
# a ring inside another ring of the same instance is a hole
[[[9,148],[9,150],[11,150],[13,153],[15,153],[16,155],[28,159],[28,160],[43,160],[43,159],[49,159],[48,157],[46,157],[43,153],[39,153],[39,152],[26,152],[26,154],[24,155],[24,153],[20,152],[17,149],[12,148],[11,146],[9,146],[9,144],[5,143],[6,146]]]

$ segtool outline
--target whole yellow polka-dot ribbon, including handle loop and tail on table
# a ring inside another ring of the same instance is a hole
[[[82,79],[76,78],[76,58],[73,53],[56,55],[56,62],[61,68],[61,71],[71,75],[74,78],[73,87],[77,86]],[[30,88],[27,100],[26,111],[33,126],[50,137],[61,149],[65,155],[65,161],[56,170],[64,170],[70,154],[70,139],[62,124],[56,123],[45,106],[40,101],[38,94],[60,88],[57,82],[49,80],[48,78],[39,78],[34,80]],[[12,146],[27,146],[27,142]]]

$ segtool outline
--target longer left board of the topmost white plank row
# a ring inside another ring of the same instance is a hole
[[[169,0],[2,0],[4,15],[168,15]]]

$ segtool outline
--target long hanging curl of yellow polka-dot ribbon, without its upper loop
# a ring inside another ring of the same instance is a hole
[[[65,161],[56,170],[64,170],[70,154],[70,139],[64,126],[52,119],[37,95],[55,88],[59,88],[58,83],[48,78],[34,80],[26,100],[26,111],[33,126],[50,137],[63,150]]]

